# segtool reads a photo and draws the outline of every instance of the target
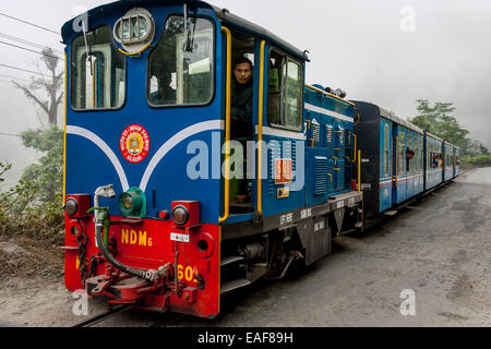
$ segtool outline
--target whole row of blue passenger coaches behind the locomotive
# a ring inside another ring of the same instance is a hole
[[[376,105],[355,101],[364,214],[374,216],[460,174],[460,149]]]

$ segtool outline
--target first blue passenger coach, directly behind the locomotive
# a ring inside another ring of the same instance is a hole
[[[423,192],[423,131],[366,101],[357,107],[355,133],[362,152],[361,185],[367,216]]]

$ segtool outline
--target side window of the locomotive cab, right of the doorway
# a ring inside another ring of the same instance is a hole
[[[270,56],[267,118],[271,124],[301,130],[303,67],[276,50]]]

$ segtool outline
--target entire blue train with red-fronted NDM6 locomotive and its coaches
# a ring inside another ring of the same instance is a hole
[[[62,36],[65,285],[109,304],[213,318],[224,294],[459,174],[457,147],[306,87],[304,51],[205,2],[117,1]],[[238,57],[253,61],[247,156],[230,139]]]

